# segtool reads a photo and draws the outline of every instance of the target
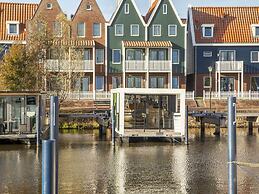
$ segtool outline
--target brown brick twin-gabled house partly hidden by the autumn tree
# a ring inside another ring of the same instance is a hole
[[[85,98],[95,99],[106,90],[105,77],[105,18],[95,0],[82,0],[76,13],[69,21],[68,41],[62,39],[64,27],[58,18],[67,16],[61,10],[57,0],[42,0],[31,22],[39,18],[55,34],[54,44],[68,46],[62,58],[55,49],[47,51],[46,68],[53,75],[57,72],[68,74],[67,90],[73,94],[84,94]],[[62,41],[59,41],[59,40]],[[73,54],[75,53],[75,54]],[[46,89],[52,90],[46,81]]]

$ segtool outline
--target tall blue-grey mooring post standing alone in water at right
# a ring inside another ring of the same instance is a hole
[[[237,194],[236,97],[228,99],[228,193]]]

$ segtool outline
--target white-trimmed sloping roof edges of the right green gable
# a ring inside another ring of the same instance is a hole
[[[168,0],[168,2],[170,3],[171,7],[173,8],[173,11],[174,11],[179,23],[181,24],[181,26],[185,26],[185,24],[183,24],[181,18],[179,17],[179,14],[178,14],[172,0]],[[153,2],[153,4],[151,5],[151,7],[149,8],[149,10],[146,14],[146,17],[145,17],[147,25],[150,25],[150,23],[153,20],[153,18],[154,18],[154,16],[155,16],[155,14],[156,14],[156,12],[157,12],[161,3],[162,3],[162,0],[155,0]]]

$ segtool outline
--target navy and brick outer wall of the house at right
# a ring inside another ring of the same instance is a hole
[[[220,51],[235,51],[235,61],[243,61],[243,90],[251,90],[251,77],[259,77],[259,63],[251,63],[251,51],[259,51],[258,46],[195,46],[194,49],[194,74],[187,76],[187,90],[196,91],[197,96],[201,96],[203,90],[209,90],[204,88],[204,77],[209,76],[208,67],[213,67],[212,72],[212,90],[216,90],[216,76],[215,76],[215,64],[219,61]],[[212,52],[211,57],[204,57],[203,52]],[[233,73],[221,73],[221,76],[233,77],[235,79],[235,90],[238,85],[238,74]],[[194,82],[195,80],[195,82]]]

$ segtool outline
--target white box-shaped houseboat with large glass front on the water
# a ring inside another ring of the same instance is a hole
[[[112,119],[120,137],[182,137],[184,89],[112,90]]]

